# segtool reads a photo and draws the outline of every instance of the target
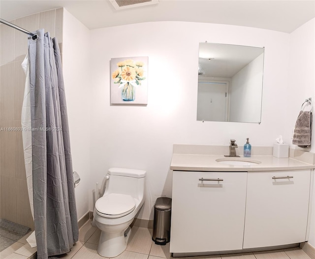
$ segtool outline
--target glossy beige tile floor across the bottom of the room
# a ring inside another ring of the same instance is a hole
[[[91,221],[88,221],[85,225],[80,228],[79,241],[74,245],[69,253],[66,255],[59,256],[62,259],[105,259],[97,254],[97,243],[100,235],[100,230],[96,227],[91,226]],[[26,239],[26,237],[24,238]],[[5,249],[0,253],[0,258],[4,259],[8,253],[13,253],[19,248],[26,240],[21,240],[20,243],[16,243],[15,248],[13,244],[10,248]],[[20,240],[19,240],[20,242]],[[6,251],[7,250],[7,251]],[[9,251],[10,250],[10,251]],[[13,251],[11,251],[13,250]],[[22,251],[23,252],[23,251]],[[32,252],[32,251],[30,251]],[[21,256],[22,259],[29,258],[25,253],[17,250],[8,259],[18,259],[16,256]],[[19,258],[19,259],[20,259]],[[152,229],[144,227],[132,227],[131,235],[129,237],[126,251],[115,259],[170,259],[169,243],[165,246],[156,245],[152,241]],[[186,259],[311,259],[303,250],[299,248],[292,248],[286,250],[277,250],[269,252],[254,252],[244,254],[233,254],[233,255],[217,255],[217,256],[197,256],[197,257],[185,257]],[[183,259],[183,258],[178,258]]]

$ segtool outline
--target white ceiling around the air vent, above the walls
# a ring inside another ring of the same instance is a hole
[[[315,0],[159,0],[116,10],[109,0],[0,0],[0,18],[65,7],[87,28],[155,21],[185,21],[293,32],[315,17]],[[183,29],[184,30],[184,29]]]

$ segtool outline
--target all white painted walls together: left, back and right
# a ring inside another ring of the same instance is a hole
[[[156,198],[171,196],[169,165],[174,143],[228,145],[229,139],[235,138],[242,146],[250,137],[254,148],[270,146],[282,134],[284,142],[294,147],[291,128],[300,105],[315,94],[315,19],[291,34],[183,22],[143,23],[90,32],[66,10],[63,19],[73,168],[81,176],[76,188],[79,218],[93,210],[95,182],[104,183],[109,167],[124,166],[147,170],[147,198],[138,218],[153,219]],[[265,47],[260,125],[196,121],[198,44],[206,40]],[[149,56],[148,105],[111,106],[109,60],[132,56]],[[313,246],[314,229],[313,212],[309,239]]]

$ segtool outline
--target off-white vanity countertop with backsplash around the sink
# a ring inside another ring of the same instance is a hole
[[[176,147],[175,147],[176,146]],[[184,149],[183,149],[184,147]],[[196,146],[194,147],[194,153],[196,152]],[[180,149],[179,149],[180,148]],[[188,148],[188,149],[187,149]],[[174,153],[172,157],[172,162],[170,169],[177,171],[274,171],[274,170],[299,170],[299,169],[313,169],[315,168],[315,164],[309,163],[312,162],[312,159],[308,162],[301,161],[304,155],[309,157],[314,157],[313,153],[290,150],[290,158],[276,158],[270,154],[267,155],[257,155],[252,156],[251,158],[244,158],[240,156],[240,160],[242,159],[251,159],[258,160],[259,164],[251,163],[250,165],[230,165],[223,164],[217,162],[217,159],[231,159],[233,158],[225,158],[223,155],[218,154],[205,154],[204,146],[202,147],[201,154],[189,154],[193,152],[189,152],[189,146],[181,146],[174,145],[174,151],[179,153]],[[212,150],[213,148],[211,148]],[[178,150],[184,150],[184,152],[178,152]],[[198,150],[198,148],[197,148]],[[303,154],[303,153],[309,154]],[[208,153],[211,153],[209,151]],[[270,152],[269,152],[270,153]],[[224,153],[223,153],[224,154]],[[303,160],[303,159],[302,159]]]

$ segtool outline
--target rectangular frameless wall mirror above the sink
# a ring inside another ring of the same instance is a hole
[[[260,123],[264,48],[199,43],[197,121]]]

